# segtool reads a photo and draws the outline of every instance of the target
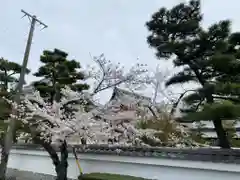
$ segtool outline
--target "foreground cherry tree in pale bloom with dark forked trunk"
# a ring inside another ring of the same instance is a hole
[[[92,98],[90,93],[80,94],[71,91],[70,88],[63,89],[61,93],[61,100],[51,104],[46,102],[39,92],[26,95],[21,104],[7,100],[18,111],[18,117],[21,117],[18,119],[30,128],[33,140],[41,143],[49,153],[58,180],[67,179],[68,143],[72,142],[73,138],[84,137],[88,144],[121,145],[143,145],[142,136],[156,139],[154,130],[134,127],[130,120],[137,115],[132,111],[118,114],[115,119],[97,119],[96,115],[101,113],[99,110],[84,110],[85,100]],[[77,101],[82,102],[78,109],[73,106]],[[16,117],[12,115],[11,118]],[[60,157],[54,151],[54,147],[59,148]]]

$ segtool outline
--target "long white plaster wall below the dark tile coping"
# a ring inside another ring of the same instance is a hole
[[[84,173],[106,172],[161,180],[239,180],[240,165],[128,157],[116,155],[80,154]],[[55,175],[51,159],[44,151],[12,150],[9,167]],[[79,171],[69,155],[68,177],[76,178]]]

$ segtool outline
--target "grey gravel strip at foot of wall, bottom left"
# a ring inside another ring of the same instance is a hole
[[[18,171],[16,169],[8,169],[7,177],[8,180],[55,180],[55,176],[28,171]]]

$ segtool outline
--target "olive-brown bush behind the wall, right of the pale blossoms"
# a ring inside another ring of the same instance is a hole
[[[179,122],[175,121],[174,117],[164,109],[161,112],[155,113],[156,117],[146,117],[138,121],[138,128],[153,129],[155,137],[159,139],[156,142],[147,136],[143,136],[144,143],[150,146],[166,146],[166,147],[195,147],[198,143],[192,139],[188,128],[185,128]]]

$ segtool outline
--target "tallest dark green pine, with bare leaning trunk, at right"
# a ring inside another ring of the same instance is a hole
[[[171,9],[161,8],[146,23],[151,32],[147,42],[157,50],[159,59],[173,59],[174,65],[183,69],[166,82],[167,86],[188,82],[200,85],[195,93],[184,98],[189,105],[185,112],[194,120],[212,120],[219,146],[230,148],[222,120],[239,117],[239,96],[233,98],[232,83],[238,76],[237,55],[233,52],[240,41],[231,35],[228,20],[215,23],[207,30],[201,27],[201,22],[200,0],[180,3]],[[231,46],[233,42],[235,45]],[[234,71],[227,70],[229,67],[235,67]],[[231,79],[228,93],[222,87],[227,86],[226,79]]]

